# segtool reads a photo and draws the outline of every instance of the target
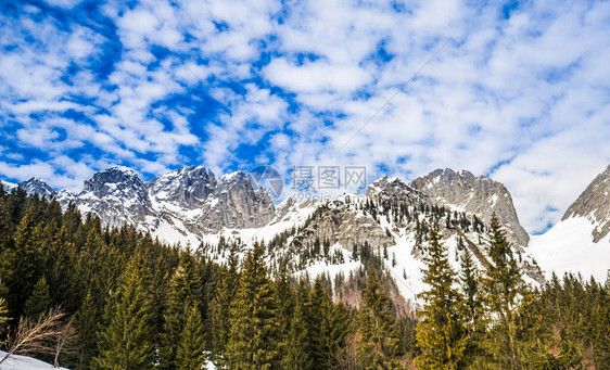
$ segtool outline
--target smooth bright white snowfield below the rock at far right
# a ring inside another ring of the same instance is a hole
[[[546,233],[531,239],[529,252],[545,270],[546,277],[555,271],[581,273],[584,279],[593,276],[605,281],[610,270],[610,235],[594,242],[595,225],[585,217],[568,218]]]

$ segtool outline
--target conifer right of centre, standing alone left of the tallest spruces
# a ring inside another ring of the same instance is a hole
[[[373,270],[369,271],[363,301],[364,305],[358,312],[358,362],[365,370],[396,369],[398,339],[395,315],[387,310],[387,295],[381,291],[381,283]]]

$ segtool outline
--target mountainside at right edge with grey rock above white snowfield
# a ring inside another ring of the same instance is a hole
[[[569,207],[561,221],[532,237],[530,251],[547,276],[581,273],[605,281],[610,272],[610,166]]]

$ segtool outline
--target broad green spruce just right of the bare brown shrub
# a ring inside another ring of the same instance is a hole
[[[150,272],[144,265],[141,255],[131,258],[106,305],[106,327],[100,333],[100,353],[96,357],[101,369],[154,368],[153,310],[145,283]]]

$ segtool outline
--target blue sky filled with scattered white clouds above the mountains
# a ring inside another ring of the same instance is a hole
[[[610,3],[2,1],[0,177],[437,167],[532,233],[610,163]]]

